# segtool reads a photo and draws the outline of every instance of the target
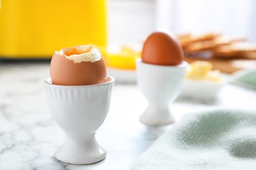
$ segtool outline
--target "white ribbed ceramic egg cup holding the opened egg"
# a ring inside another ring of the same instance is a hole
[[[53,118],[66,133],[66,141],[54,157],[72,164],[89,164],[103,160],[106,150],[100,146],[95,133],[104,122],[115,79],[88,86],[59,86],[45,80],[49,109]]]

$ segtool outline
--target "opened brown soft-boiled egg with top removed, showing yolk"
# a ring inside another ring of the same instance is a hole
[[[52,83],[64,86],[81,86],[106,82],[104,59],[100,52],[95,49],[93,46],[75,46],[54,52],[50,65]],[[98,52],[98,56],[94,56],[95,51]],[[98,60],[94,61],[95,57]],[[93,61],[90,61],[92,59]]]

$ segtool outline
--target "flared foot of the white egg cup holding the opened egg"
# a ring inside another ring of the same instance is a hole
[[[87,139],[66,137],[66,141],[56,150],[54,157],[64,163],[91,164],[104,160],[106,158],[106,150],[98,144],[95,135]]]

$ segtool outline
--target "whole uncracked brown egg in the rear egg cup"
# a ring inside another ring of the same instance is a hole
[[[152,33],[144,42],[142,62],[154,65],[179,65],[183,61],[181,44],[171,33]]]

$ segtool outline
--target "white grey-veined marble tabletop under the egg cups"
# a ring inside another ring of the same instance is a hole
[[[47,105],[47,77],[49,63],[0,63],[0,169],[129,169],[171,128],[141,124],[146,99],[136,84],[116,82],[108,116],[96,133],[106,159],[91,165],[62,163],[53,157],[65,135]],[[215,101],[177,99],[170,108],[179,122],[184,114],[214,107],[256,109],[255,101],[255,90],[226,84]]]

